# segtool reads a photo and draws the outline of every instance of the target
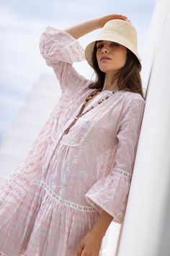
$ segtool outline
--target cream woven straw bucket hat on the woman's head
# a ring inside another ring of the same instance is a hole
[[[109,20],[106,22],[96,40],[93,40],[85,48],[85,58],[89,65],[93,68],[92,52],[97,40],[109,40],[115,43],[120,43],[127,47],[141,61],[138,54],[138,35],[135,27],[130,22],[125,20]],[[141,64],[140,64],[141,65]]]

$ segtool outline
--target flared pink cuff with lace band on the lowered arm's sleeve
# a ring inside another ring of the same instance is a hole
[[[118,169],[120,170],[120,169]],[[130,176],[118,170],[102,177],[86,192],[86,202],[94,207],[101,215],[105,210],[113,217],[112,221],[122,223],[130,188]],[[125,175],[124,175],[125,174]]]

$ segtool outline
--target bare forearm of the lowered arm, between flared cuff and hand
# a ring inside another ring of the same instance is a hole
[[[103,238],[109,227],[109,224],[112,222],[112,219],[113,217],[109,215],[109,213],[107,213],[105,210],[102,210],[102,214],[91,232]]]

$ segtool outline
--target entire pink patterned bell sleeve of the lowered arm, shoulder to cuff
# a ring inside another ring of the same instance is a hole
[[[128,201],[144,107],[145,100],[141,97],[125,104],[117,124],[118,142],[112,170],[94,183],[85,195],[89,205],[100,214],[105,210],[113,217],[112,221],[120,224]]]

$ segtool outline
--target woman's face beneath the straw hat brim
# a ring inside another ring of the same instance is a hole
[[[109,40],[97,41],[97,62],[102,72],[121,69],[127,59],[127,48]],[[107,57],[109,59],[102,59]]]

